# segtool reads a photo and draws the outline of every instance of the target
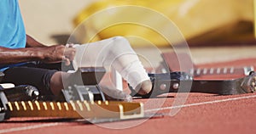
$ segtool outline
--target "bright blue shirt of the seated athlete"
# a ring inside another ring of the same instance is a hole
[[[26,47],[26,31],[18,0],[0,0],[0,47]],[[0,71],[8,66],[0,64]]]

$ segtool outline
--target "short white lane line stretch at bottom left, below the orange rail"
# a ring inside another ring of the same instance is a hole
[[[36,125],[36,126],[14,127],[14,128],[0,130],[0,133],[7,133],[7,132],[14,132],[14,131],[26,131],[26,130],[32,130],[32,129],[43,128],[43,127],[48,127],[48,126],[57,126],[57,125],[60,125],[60,123],[48,123],[48,124],[42,124],[42,125]]]

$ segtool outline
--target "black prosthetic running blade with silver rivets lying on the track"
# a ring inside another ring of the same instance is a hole
[[[132,96],[152,98],[168,92],[203,92],[219,95],[256,92],[256,73],[253,71],[250,75],[231,80],[193,80],[191,75],[183,72],[148,74],[148,76],[153,83],[153,90],[146,95],[131,90]]]

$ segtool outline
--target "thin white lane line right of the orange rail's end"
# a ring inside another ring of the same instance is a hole
[[[247,97],[239,97],[239,98],[226,98],[226,99],[214,100],[214,101],[209,101],[209,102],[201,102],[201,103],[189,103],[189,104],[183,104],[183,105],[177,105],[177,106],[165,107],[165,108],[159,108],[159,109],[146,109],[145,112],[153,112],[153,111],[159,111],[159,110],[164,110],[164,109],[178,109],[178,108],[198,106],[198,105],[203,105],[203,104],[223,103],[223,102],[230,102],[230,101],[247,99],[247,98],[256,98],[256,95],[251,95],[251,96],[247,96]]]

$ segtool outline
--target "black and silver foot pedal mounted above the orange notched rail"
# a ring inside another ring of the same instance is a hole
[[[61,98],[62,101],[106,101],[104,93],[98,83],[102,80],[103,75],[106,73],[103,67],[88,67],[79,68],[76,72],[79,81],[75,81],[73,85],[68,86],[62,90]]]

